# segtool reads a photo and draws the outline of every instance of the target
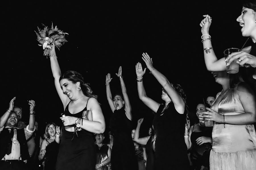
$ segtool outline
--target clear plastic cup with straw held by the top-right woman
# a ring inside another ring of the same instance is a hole
[[[225,59],[230,56],[230,54],[232,52],[239,52],[240,49],[239,48],[228,48],[226,50],[224,50],[224,56]],[[238,59],[235,59],[234,61],[232,61],[232,63],[230,63],[230,65],[227,66],[227,73],[229,74],[236,74],[239,71],[239,64],[236,63]],[[226,63],[228,63],[228,61],[226,61]]]

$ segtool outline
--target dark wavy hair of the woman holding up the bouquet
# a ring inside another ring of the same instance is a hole
[[[94,97],[96,99],[98,98],[97,95],[93,94],[92,89],[89,86],[90,84],[84,82],[84,78],[80,73],[76,71],[66,71],[63,75],[60,76],[59,81],[64,78],[69,80],[72,83],[80,82],[82,92],[87,97]]]

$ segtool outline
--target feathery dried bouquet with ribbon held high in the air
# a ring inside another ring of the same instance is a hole
[[[39,46],[43,46],[44,56],[50,56],[50,50],[52,47],[52,43],[55,44],[55,47],[59,48],[67,42],[65,35],[69,35],[57,28],[57,26],[53,27],[53,23],[51,24],[51,28],[48,28],[44,24],[44,29],[40,30],[38,27],[38,31],[36,32],[37,41]]]

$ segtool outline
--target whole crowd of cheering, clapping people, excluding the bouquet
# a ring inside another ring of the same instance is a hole
[[[119,94],[112,95],[112,77],[108,73],[106,97],[112,111],[109,143],[103,143],[106,125],[98,96],[80,73],[61,74],[52,43],[50,63],[63,104],[62,125],[49,122],[44,134],[38,133],[36,102],[28,101],[30,116],[26,124],[22,121],[22,107],[15,105],[16,97],[11,99],[0,118],[0,169],[255,169],[255,1],[243,4],[237,21],[242,35],[250,37],[253,44],[221,59],[214,54],[209,35],[212,18],[204,15],[200,23],[205,64],[222,90],[216,96],[205,96],[206,103],[198,101],[194,115],[189,112],[183,88],[158,71],[147,53],[142,54],[146,68],[140,62],[135,65],[138,99],[154,112],[152,126],[144,137],[140,133],[144,118],[137,121],[135,129],[132,124],[132,105],[122,67],[116,73],[121,85]],[[239,72],[227,73],[226,67],[233,61],[240,65]],[[162,86],[162,103],[146,95],[143,84],[146,69]]]

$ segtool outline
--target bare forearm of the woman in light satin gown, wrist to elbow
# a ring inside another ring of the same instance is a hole
[[[256,122],[255,114],[252,114],[252,113],[242,113],[237,115],[225,115],[225,116],[226,116],[226,119],[225,119],[226,124],[246,125],[246,124],[253,124]]]

